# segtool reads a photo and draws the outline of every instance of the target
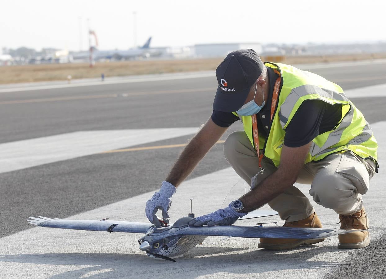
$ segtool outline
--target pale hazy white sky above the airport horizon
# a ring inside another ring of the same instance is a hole
[[[154,47],[386,41],[385,10],[384,0],[3,0],[0,47],[85,50],[90,19],[99,49],[127,49],[134,45],[134,11],[137,44],[152,36]]]

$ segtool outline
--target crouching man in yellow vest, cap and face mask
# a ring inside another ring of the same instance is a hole
[[[263,64],[252,49],[230,52],[216,76],[212,116],[185,147],[161,189],[147,201],[150,222],[160,225],[158,209],[169,218],[176,187],[225,130],[241,120],[244,131],[229,135],[224,154],[251,191],[189,225],[231,225],[267,203],[285,220],[285,227],[321,228],[308,198],[293,186],[298,182],[311,185],[313,200],[334,210],[341,228],[368,229],[362,194],[378,171],[378,145],[369,123],[342,88],[293,66]],[[258,247],[284,250],[320,241],[260,238]],[[339,235],[338,247],[362,248],[369,243],[367,231],[354,232]]]

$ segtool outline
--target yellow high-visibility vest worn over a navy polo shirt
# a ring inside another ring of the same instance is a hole
[[[278,70],[282,79],[271,129],[267,138],[259,133],[259,146],[264,146],[262,150],[264,156],[272,159],[276,167],[280,164],[285,130],[301,103],[306,100],[322,100],[332,105],[340,104],[342,117],[333,130],[320,134],[312,140],[305,164],[345,150],[350,150],[362,158],[377,161],[378,144],[372,134],[372,129],[362,113],[347,99],[339,85],[317,74],[301,71],[286,64],[268,62],[264,64]],[[236,112],[234,114],[240,117],[245,133],[251,144],[255,146],[252,135],[252,117],[240,116]],[[378,166],[378,163],[376,164]]]

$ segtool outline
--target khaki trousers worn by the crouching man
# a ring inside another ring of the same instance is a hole
[[[227,137],[224,155],[237,174],[251,186],[251,178],[260,171],[259,158],[244,131],[233,132]],[[257,176],[257,184],[277,170],[272,160],[266,157],[261,166],[264,172]],[[344,152],[305,164],[296,182],[311,184],[309,193],[318,205],[338,214],[351,215],[361,210],[362,194],[369,189],[374,172],[373,160]],[[286,189],[268,205],[288,222],[307,218],[315,211],[308,198],[295,186]]]

